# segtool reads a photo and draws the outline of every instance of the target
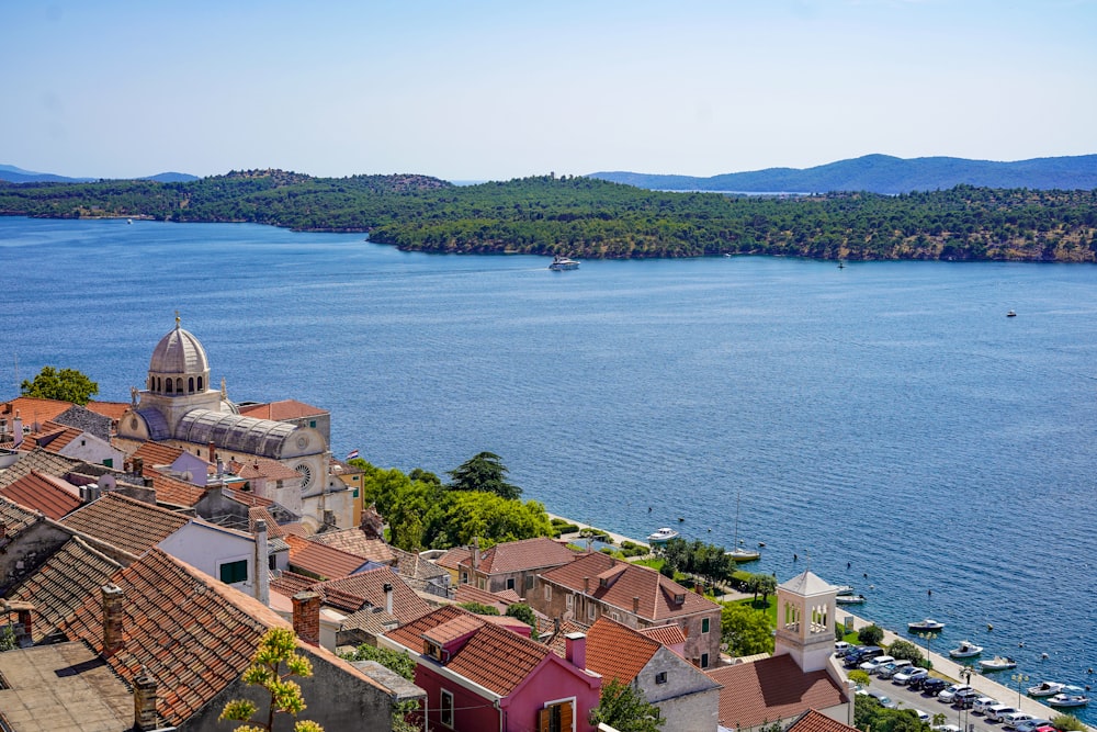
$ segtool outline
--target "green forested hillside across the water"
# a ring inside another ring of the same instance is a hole
[[[360,230],[420,251],[1097,261],[1097,191],[960,185],[896,196],[746,198],[574,177],[457,188],[422,176],[264,170],[183,183],[7,184],[0,213]]]

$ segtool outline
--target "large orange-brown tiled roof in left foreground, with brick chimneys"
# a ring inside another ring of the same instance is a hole
[[[159,682],[158,711],[169,724],[182,723],[236,683],[268,629],[290,627],[262,603],[159,549],[112,579],[125,593],[125,645],[105,661],[123,679],[147,667]],[[70,639],[102,647],[101,603],[98,593],[89,597],[61,630]],[[323,649],[299,640],[297,649],[310,654],[314,664],[323,657],[361,683],[383,688]]]

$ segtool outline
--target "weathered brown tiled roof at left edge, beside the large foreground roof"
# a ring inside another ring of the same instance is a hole
[[[98,592],[121,567],[79,537],[72,537],[5,599],[34,605],[31,638],[37,643],[54,632],[72,610],[88,599],[89,594]]]

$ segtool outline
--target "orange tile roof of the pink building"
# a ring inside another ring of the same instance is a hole
[[[446,606],[385,634],[414,654],[423,651],[423,635],[456,618],[475,618]],[[445,667],[488,690],[506,697],[540,666],[551,651],[509,630],[476,619],[480,627],[446,662]],[[465,621],[467,622],[467,620]]]

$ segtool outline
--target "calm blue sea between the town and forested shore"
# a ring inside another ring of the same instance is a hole
[[[178,309],[231,398],[330,408],[337,455],[444,474],[490,450],[554,513],[728,547],[738,495],[758,571],[810,561],[884,626],[947,622],[936,650],[1089,683],[1097,268],[547,263],[0,218],[0,393],[18,357],[126,401]]]

